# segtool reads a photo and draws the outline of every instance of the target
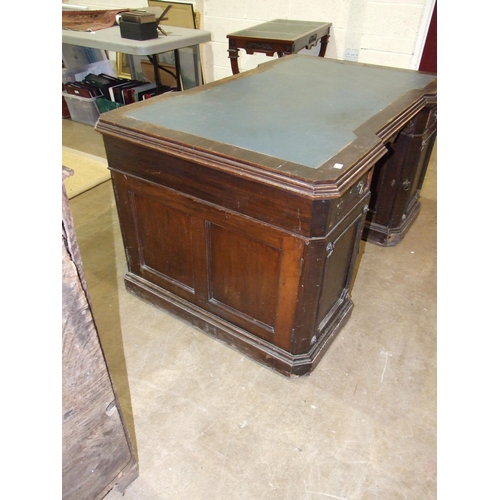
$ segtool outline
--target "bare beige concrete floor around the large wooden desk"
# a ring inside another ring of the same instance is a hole
[[[100,134],[69,120],[63,144],[105,154]],[[436,498],[436,173],[435,148],[417,221],[396,247],[362,244],[351,319],[297,379],[125,291],[111,181],[71,200],[138,454],[126,499]]]

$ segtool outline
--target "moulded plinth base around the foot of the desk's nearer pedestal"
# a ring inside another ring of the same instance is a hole
[[[353,308],[350,298],[345,297],[319,341],[309,352],[293,355],[130,272],[125,274],[125,288],[136,297],[188,321],[204,333],[286,377],[309,375],[314,370],[349,320]]]

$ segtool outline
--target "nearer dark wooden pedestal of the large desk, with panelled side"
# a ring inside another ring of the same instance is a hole
[[[286,376],[310,372],[353,307],[372,170],[322,200],[104,142],[127,289]]]

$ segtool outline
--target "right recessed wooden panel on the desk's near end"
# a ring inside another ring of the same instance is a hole
[[[211,298],[271,328],[276,321],[281,252],[210,225]]]

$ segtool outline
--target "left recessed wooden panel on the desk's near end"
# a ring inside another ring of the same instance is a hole
[[[189,215],[138,195],[134,202],[141,266],[194,288]]]

